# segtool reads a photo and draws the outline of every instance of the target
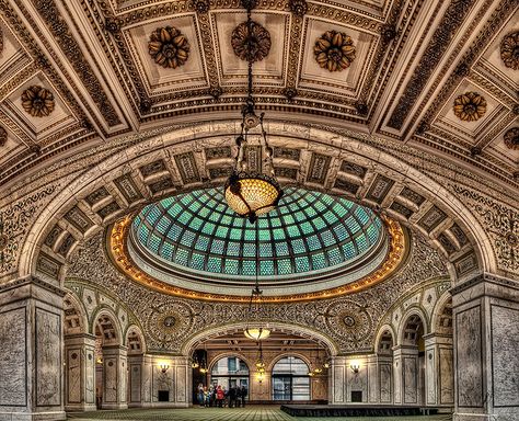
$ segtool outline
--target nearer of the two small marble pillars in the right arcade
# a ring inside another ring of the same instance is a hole
[[[425,339],[425,406],[454,405],[452,337],[428,334]]]

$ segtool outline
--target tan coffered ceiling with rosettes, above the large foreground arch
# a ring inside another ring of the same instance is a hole
[[[239,0],[0,5],[0,183],[122,135],[239,115]],[[254,64],[257,106],[269,120],[427,148],[517,186],[518,10],[514,0],[261,0],[252,19],[272,46]],[[184,48],[175,66],[151,54],[164,44]],[[330,44],[350,47],[342,70],[318,61]]]

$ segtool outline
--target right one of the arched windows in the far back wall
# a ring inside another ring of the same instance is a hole
[[[300,357],[287,355],[272,371],[273,400],[311,400],[311,369]]]

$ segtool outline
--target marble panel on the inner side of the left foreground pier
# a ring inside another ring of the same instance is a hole
[[[35,311],[36,405],[61,405],[61,316],[43,308]]]

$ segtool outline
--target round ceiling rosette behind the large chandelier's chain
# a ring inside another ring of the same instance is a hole
[[[245,61],[261,61],[270,50],[270,34],[261,24],[252,21],[240,23],[231,35],[234,54]]]

